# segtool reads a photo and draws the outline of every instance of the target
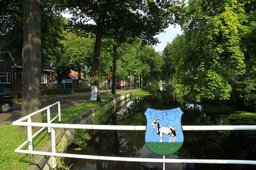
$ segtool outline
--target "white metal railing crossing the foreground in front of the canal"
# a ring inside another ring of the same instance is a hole
[[[50,107],[58,104],[58,115],[50,120]],[[47,109],[47,123],[35,123],[31,122],[31,116],[37,113],[41,113]],[[79,154],[67,154],[67,153],[56,153],[55,149],[55,130],[54,128],[70,128],[70,129],[99,129],[99,130],[146,130],[146,126],[120,126],[120,125],[81,125],[81,124],[57,124],[52,123],[56,118],[60,121],[60,103],[56,102],[50,106],[40,109],[37,112],[31,113],[21,119],[14,121],[13,125],[27,126],[28,127],[28,140],[25,141],[21,146],[15,149],[14,152],[27,153],[27,154],[38,154],[52,156],[52,168],[56,167],[55,157],[69,157],[69,158],[82,158],[82,159],[96,159],[96,160],[114,160],[114,161],[130,161],[130,162],[156,162],[156,163],[208,163],[208,164],[251,164],[256,165],[256,160],[218,160],[218,159],[157,159],[157,158],[127,158],[127,157],[107,157],[107,156],[96,156],[96,155],[79,155]],[[27,122],[24,122],[27,120]],[[32,136],[32,126],[48,128],[48,132],[51,132],[52,140],[52,152],[33,151],[32,139],[34,136],[39,134],[39,131]],[[182,126],[182,130],[256,130],[256,125],[213,125],[213,126]],[[28,150],[23,150],[28,143]]]

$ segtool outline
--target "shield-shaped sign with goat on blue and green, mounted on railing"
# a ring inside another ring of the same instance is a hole
[[[156,110],[147,108],[145,142],[150,151],[170,155],[180,149],[184,137],[181,127],[182,110]]]

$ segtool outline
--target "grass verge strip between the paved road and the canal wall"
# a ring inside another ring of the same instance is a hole
[[[132,92],[134,90],[124,91],[118,94]],[[138,92],[137,92],[138,93]],[[101,96],[101,100],[106,101],[116,95]],[[77,104],[74,107],[62,110],[62,123],[75,118],[87,109],[97,107],[101,102],[87,101]],[[46,122],[46,116],[43,122]],[[29,159],[28,154],[15,153],[14,150],[27,140],[27,131],[22,130],[19,126],[12,124],[0,126],[0,169],[8,170],[25,170],[29,169],[33,160]],[[43,131],[38,137],[33,139],[34,150],[42,147],[49,140],[47,131]]]

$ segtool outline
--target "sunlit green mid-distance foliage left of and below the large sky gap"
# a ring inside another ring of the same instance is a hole
[[[164,61],[153,46],[142,45],[142,41],[137,39],[132,44],[123,43],[118,55],[117,81],[125,80],[127,75],[142,76],[145,84],[160,80]]]

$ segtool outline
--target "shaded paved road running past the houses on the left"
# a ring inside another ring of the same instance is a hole
[[[116,90],[119,92],[121,90]],[[100,91],[101,96],[111,94],[111,91]],[[57,96],[57,97],[42,97],[41,105],[42,108],[49,106],[57,101],[60,101],[60,108],[65,109],[71,106],[75,106],[78,103],[86,102],[90,100],[91,93],[82,93],[82,94],[74,94],[74,95],[65,95],[65,96]],[[57,106],[57,105],[56,105]],[[57,111],[58,108],[54,107],[51,109],[51,112]],[[46,114],[46,111],[45,113]],[[14,103],[12,107],[12,111],[8,113],[0,113],[0,126],[11,123],[17,119],[21,118],[21,103]]]

